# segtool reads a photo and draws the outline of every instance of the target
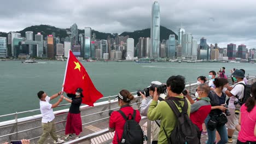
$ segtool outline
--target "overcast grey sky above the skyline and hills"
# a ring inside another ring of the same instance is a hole
[[[8,0],[1,2],[0,32],[20,31],[32,25],[79,29],[91,27],[122,33],[150,27],[153,0]],[[181,27],[200,42],[245,44],[256,48],[254,0],[159,0],[160,25],[176,34]]]

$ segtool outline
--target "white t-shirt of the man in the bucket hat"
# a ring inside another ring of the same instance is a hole
[[[237,82],[237,83],[244,83],[245,84],[245,81],[240,81],[240,82]],[[236,106],[234,105],[234,102],[238,100],[235,97],[236,95],[239,99],[243,98],[243,90],[245,89],[245,87],[241,84],[237,85],[237,83],[233,86],[233,89],[230,91],[230,93],[232,93],[234,95],[234,96],[230,97],[230,99],[229,99],[229,107],[231,109],[236,108]]]

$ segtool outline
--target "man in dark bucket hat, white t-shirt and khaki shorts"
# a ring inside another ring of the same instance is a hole
[[[242,70],[236,69],[234,73],[232,73],[232,76],[234,76],[237,80],[236,85],[233,87],[228,86],[225,89],[226,95],[230,97],[229,99],[229,105],[228,109],[230,111],[231,116],[228,117],[228,137],[229,141],[232,142],[232,136],[235,132],[235,129],[240,131],[241,127],[238,124],[238,114],[240,113],[240,107],[242,104],[241,99],[244,95],[244,89],[245,89],[245,81],[243,81],[243,78],[245,77],[245,74]],[[237,114],[236,114],[237,113]]]

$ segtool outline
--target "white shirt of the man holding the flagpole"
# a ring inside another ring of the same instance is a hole
[[[51,104],[49,103],[50,97],[45,97],[45,101],[40,100],[40,111],[42,113],[42,123],[48,123],[55,118]]]

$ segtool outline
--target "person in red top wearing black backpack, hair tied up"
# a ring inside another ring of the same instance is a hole
[[[139,121],[141,121],[141,115],[139,114],[139,111],[134,110],[129,105],[130,101],[133,100],[134,97],[129,91],[127,91],[126,89],[123,89],[119,92],[117,98],[118,98],[118,105],[120,106],[120,110],[109,113],[110,114],[109,131],[110,132],[115,131],[115,135],[112,143],[118,144],[118,143],[125,143],[127,141],[134,141],[136,140],[136,136],[133,137],[133,140],[123,139],[124,125],[126,124],[126,122],[129,120],[130,121],[134,120],[137,123],[139,123]],[[126,117],[126,119],[124,119],[124,117]],[[138,140],[132,143],[143,143],[143,133],[142,133],[142,141]]]

